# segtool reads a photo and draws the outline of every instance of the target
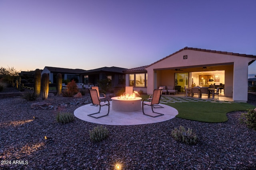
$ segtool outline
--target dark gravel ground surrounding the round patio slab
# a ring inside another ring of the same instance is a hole
[[[224,123],[204,123],[174,118],[146,125],[105,125],[110,136],[92,142],[89,130],[97,124],[75,118],[67,124],[56,122],[58,111],[73,113],[90,102],[82,98],[49,96],[54,109],[30,109],[22,98],[0,99],[0,169],[28,170],[226,170],[256,169],[256,131],[239,123],[241,111],[228,113]],[[256,95],[248,102],[256,106]],[[33,119],[33,116],[38,119]],[[200,141],[186,145],[170,133],[180,125],[192,128]],[[53,139],[47,142],[44,136]]]

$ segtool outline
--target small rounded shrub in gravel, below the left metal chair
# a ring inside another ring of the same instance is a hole
[[[108,129],[102,125],[94,127],[93,130],[89,130],[90,139],[92,141],[102,141],[108,137]]]

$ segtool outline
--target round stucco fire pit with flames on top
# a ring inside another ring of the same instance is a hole
[[[120,99],[120,97],[113,97],[112,109],[117,111],[136,111],[141,109],[140,97],[135,97],[134,99]]]

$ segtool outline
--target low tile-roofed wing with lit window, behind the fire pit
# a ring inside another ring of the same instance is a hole
[[[145,70],[146,66],[126,69],[123,72],[126,74],[126,86],[133,86],[133,90],[147,92],[148,74]]]

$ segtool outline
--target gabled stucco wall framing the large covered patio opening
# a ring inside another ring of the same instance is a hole
[[[187,55],[187,59],[183,56]],[[204,51],[195,51],[190,49],[182,50],[174,55],[166,57],[145,69],[148,72],[147,93],[152,94],[155,88],[164,83],[171,83],[164,76],[169,75],[173,68],[194,68],[201,66],[221,66],[225,70],[225,96],[233,96],[234,101],[247,101],[248,85],[248,63],[254,58],[241,57],[236,55],[227,55],[220,53],[210,53]],[[171,76],[172,74],[170,74]],[[174,78],[170,79],[174,80]]]

